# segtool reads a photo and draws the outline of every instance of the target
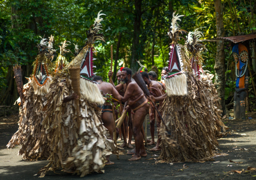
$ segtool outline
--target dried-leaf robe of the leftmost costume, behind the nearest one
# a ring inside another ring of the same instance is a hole
[[[21,145],[19,155],[24,159],[47,159],[49,156],[49,140],[41,125],[44,118],[44,96],[36,95],[32,79],[23,86],[24,104],[20,108],[19,129],[12,136],[7,148]]]

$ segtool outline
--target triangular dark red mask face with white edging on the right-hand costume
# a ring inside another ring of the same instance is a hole
[[[171,51],[169,53],[170,58],[169,58],[169,72],[167,77],[172,77],[174,75],[180,74],[182,71],[182,65],[183,63],[181,62],[181,56],[180,56],[180,48],[178,45],[171,45]]]

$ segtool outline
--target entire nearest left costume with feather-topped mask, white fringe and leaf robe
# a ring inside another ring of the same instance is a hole
[[[115,148],[113,141],[106,139],[107,129],[102,124],[101,109],[97,106],[103,104],[104,99],[91,79],[93,53],[96,52],[93,44],[96,40],[104,41],[98,33],[101,15],[99,12],[94,25],[87,32],[85,47],[68,65],[68,69],[55,74],[47,94],[48,109],[43,124],[51,138],[51,152],[49,163],[38,172],[40,177],[48,170],[58,168],[80,176],[104,172],[105,156]],[[74,75],[77,70],[78,75]],[[79,81],[75,82],[76,85],[72,76]],[[80,94],[79,100],[64,102],[65,97],[73,92]]]

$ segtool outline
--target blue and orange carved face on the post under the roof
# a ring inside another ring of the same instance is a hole
[[[236,77],[242,77],[247,69],[248,50],[243,44],[235,44],[232,49],[236,65]]]

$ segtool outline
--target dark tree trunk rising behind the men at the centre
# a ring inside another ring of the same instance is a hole
[[[139,65],[136,60],[139,60],[139,43],[140,43],[140,28],[141,28],[141,5],[142,0],[135,0],[135,18],[134,18],[134,38],[132,47],[132,59],[131,59],[131,69],[133,73],[138,71]]]

